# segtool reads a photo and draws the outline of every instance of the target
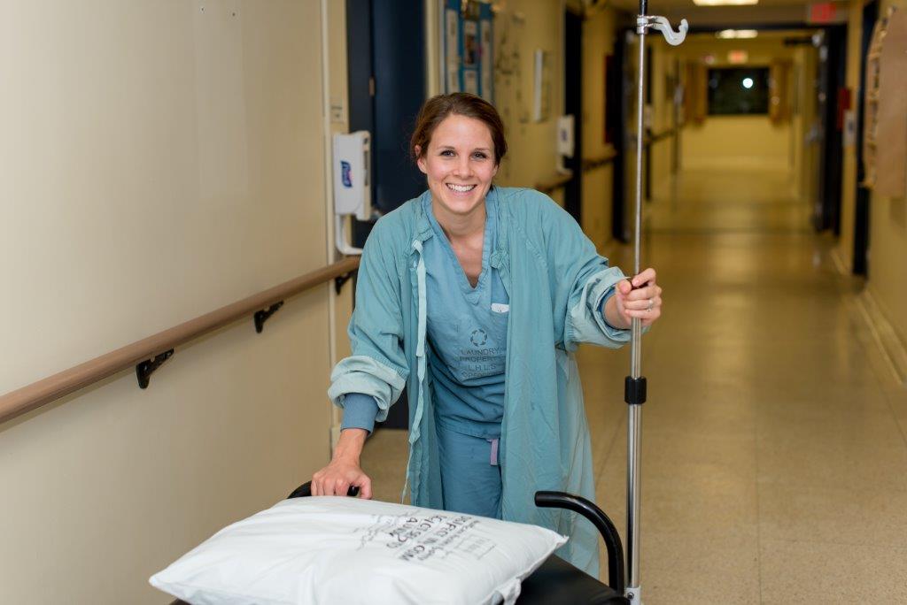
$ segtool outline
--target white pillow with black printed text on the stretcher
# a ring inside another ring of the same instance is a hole
[[[284,500],[154,574],[193,605],[512,603],[567,539],[535,525],[341,496]]]

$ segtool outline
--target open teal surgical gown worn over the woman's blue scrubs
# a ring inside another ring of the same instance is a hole
[[[331,374],[328,396],[375,397],[387,417],[404,386],[409,394],[410,455],[406,479],[413,504],[442,508],[432,379],[425,342],[422,243],[434,236],[412,199],[382,217],[366,242],[349,324],[352,356]],[[600,256],[561,206],[532,189],[493,187],[498,241],[491,265],[510,296],[506,386],[500,443],[502,518],[570,537],[557,552],[599,576],[594,526],[578,514],[536,508],[538,490],[594,501],[592,448],[574,351],[580,342],[616,348],[629,331],[610,327],[599,305],[624,275]],[[619,387],[615,386],[615,397]],[[405,490],[404,490],[405,491]]]

